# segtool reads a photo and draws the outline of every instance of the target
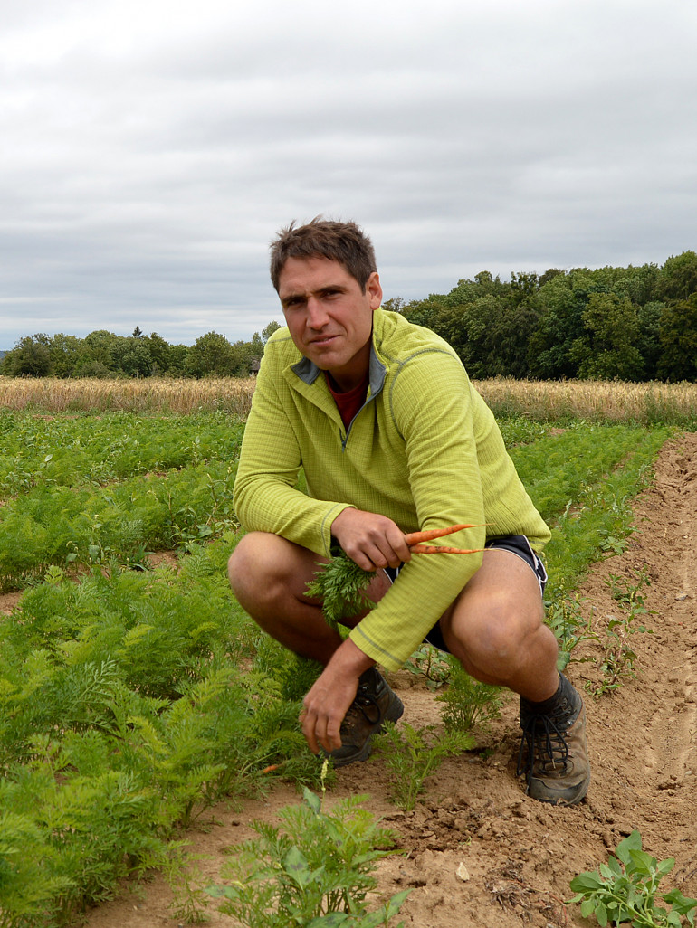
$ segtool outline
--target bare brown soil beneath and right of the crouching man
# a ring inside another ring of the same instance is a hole
[[[389,801],[389,780],[379,757],[336,773],[325,803],[356,793],[366,807],[397,831],[407,852],[379,865],[379,889],[388,896],[412,893],[401,909],[405,926],[419,928],[539,928],[590,922],[579,907],[564,907],[569,883],[594,870],[634,829],[654,857],[675,857],[664,880],[697,896],[697,433],[664,445],[655,481],[635,505],[635,531],[624,553],[599,562],[580,589],[585,614],[602,634],[611,615],[621,615],[606,583],[611,575],[636,585],[646,570],[651,586],[642,593],[652,613],[651,634],[632,638],[636,679],[600,697],[585,692],[592,782],[579,806],[547,806],[526,796],[516,778],[519,743],[517,702],[511,696],[501,719],[478,735],[477,749],[445,760],[427,780],[413,813]],[[569,665],[568,676],[584,692],[601,673],[597,643],[585,642],[574,656],[593,658]],[[439,725],[441,703],[423,677],[389,675],[414,728]],[[296,790],[280,784],[242,809],[220,805],[205,830],[188,832],[203,883],[218,881],[226,848],[254,837],[250,822],[275,821],[279,808],[298,802]],[[164,880],[126,885],[112,902],[87,914],[88,928],[177,928],[172,894]],[[399,921],[399,920],[397,920]],[[212,928],[231,925],[211,903]]]

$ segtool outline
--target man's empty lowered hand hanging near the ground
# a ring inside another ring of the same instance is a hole
[[[344,715],[356,697],[359,677],[373,664],[350,638],[335,651],[303,700],[300,723],[312,754],[319,753],[320,745],[327,752],[341,747],[339,728]]]

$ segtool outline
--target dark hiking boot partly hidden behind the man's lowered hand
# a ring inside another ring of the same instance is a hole
[[[382,730],[384,722],[396,722],[403,711],[400,697],[390,690],[375,667],[364,671],[358,681],[356,698],[339,729],[341,747],[329,754],[334,766],[346,767],[356,760],[365,760],[371,751],[373,735]]]

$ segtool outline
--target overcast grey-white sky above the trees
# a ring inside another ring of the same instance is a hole
[[[386,297],[697,249],[695,0],[0,0],[0,349],[282,320],[275,232]]]

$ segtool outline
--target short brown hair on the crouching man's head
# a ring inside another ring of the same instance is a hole
[[[355,223],[316,216],[307,226],[295,220],[271,242],[271,283],[276,292],[288,258],[327,258],[342,264],[365,292],[368,277],[377,270],[373,244]]]

